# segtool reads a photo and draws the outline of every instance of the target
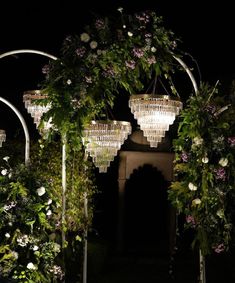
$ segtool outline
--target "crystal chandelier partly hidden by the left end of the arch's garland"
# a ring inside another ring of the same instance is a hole
[[[47,98],[47,95],[42,94],[40,90],[30,90],[25,91],[23,95],[23,101],[25,108],[28,113],[32,116],[36,127],[39,129],[39,124],[41,122],[42,115],[46,113],[50,108],[50,104],[39,105],[36,102],[40,99]],[[52,127],[51,119],[43,122],[43,127],[39,129],[40,133],[46,132]]]

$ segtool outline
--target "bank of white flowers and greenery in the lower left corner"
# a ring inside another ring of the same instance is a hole
[[[56,230],[55,202],[49,187],[36,171],[20,164],[12,169],[9,157],[0,176],[0,274],[14,282],[60,282],[55,268],[60,245]]]

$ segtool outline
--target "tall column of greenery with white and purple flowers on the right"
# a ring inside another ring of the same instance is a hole
[[[203,84],[181,112],[174,140],[175,181],[169,199],[186,215],[206,255],[228,250],[235,193],[234,108],[224,106],[218,89]]]

